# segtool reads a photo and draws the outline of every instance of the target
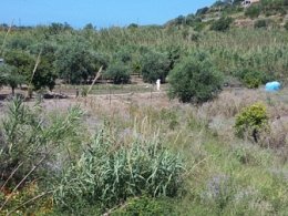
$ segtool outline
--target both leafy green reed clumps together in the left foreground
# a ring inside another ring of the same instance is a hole
[[[176,197],[182,191],[185,165],[157,136],[121,143],[104,127],[91,140],[86,136],[91,144],[84,144],[79,137],[84,133],[76,126],[79,109],[55,119],[39,116],[39,109],[30,109],[20,97],[8,105],[1,131],[1,210],[33,200],[37,194],[27,196],[24,189],[34,183],[40,197],[53,194],[58,209],[74,214],[89,206],[102,212],[136,196]],[[14,192],[21,193],[17,200]]]

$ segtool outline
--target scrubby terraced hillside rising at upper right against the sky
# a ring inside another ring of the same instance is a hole
[[[287,14],[287,0],[263,0],[248,6],[244,6],[241,1],[216,1],[210,7],[198,9],[195,14],[179,16],[165,25],[191,27],[199,31],[213,29],[215,24],[227,25],[228,20],[229,28],[288,29]],[[224,18],[226,23],[217,23]],[[218,29],[223,30],[223,28]]]

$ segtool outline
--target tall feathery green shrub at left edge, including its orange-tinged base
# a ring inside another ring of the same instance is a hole
[[[1,192],[7,188],[8,192],[13,191],[11,195],[16,196],[0,197],[0,212],[11,209],[11,206],[19,207],[35,197],[37,194],[25,195],[29,183],[43,185],[62,168],[54,162],[55,155],[61,153],[65,158],[63,145],[74,140],[81,115],[79,109],[71,109],[68,115],[44,119],[39,104],[25,105],[19,96],[8,103],[0,127],[0,185]],[[43,191],[45,188],[41,187],[35,193]],[[28,206],[38,204],[24,205],[25,213]]]

